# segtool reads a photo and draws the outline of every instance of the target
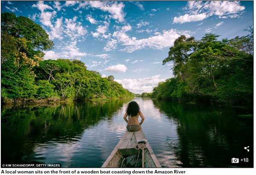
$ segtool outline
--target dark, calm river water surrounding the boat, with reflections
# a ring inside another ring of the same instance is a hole
[[[143,131],[163,167],[253,167],[253,119],[238,117],[247,111],[132,100],[140,104]],[[129,101],[2,107],[1,163],[101,167],[126,131]]]

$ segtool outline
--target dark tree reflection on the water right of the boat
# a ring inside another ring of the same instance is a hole
[[[179,142],[167,147],[174,152],[177,162],[181,162],[177,163],[179,167],[232,166],[231,157],[244,156],[241,148],[244,143],[253,145],[253,123],[237,119],[233,109],[153,102],[170,121],[177,122]]]

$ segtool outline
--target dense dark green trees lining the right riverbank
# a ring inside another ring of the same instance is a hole
[[[174,62],[175,78],[160,82],[151,97],[229,104],[253,102],[253,28],[250,34],[218,41],[218,35],[180,36],[163,60]]]

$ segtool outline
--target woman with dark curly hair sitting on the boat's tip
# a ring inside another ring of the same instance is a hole
[[[139,115],[141,121],[139,123]],[[128,120],[126,117],[128,116]],[[140,111],[139,104],[137,102],[130,102],[126,108],[124,119],[127,122],[127,130],[130,132],[138,131],[141,129],[141,124],[144,121],[143,113]]]

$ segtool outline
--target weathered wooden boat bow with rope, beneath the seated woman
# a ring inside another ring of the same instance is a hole
[[[138,142],[144,140],[145,144],[138,144]],[[142,146],[141,146],[142,145]],[[102,168],[117,168],[121,167],[122,161],[128,155],[135,155],[138,153],[138,146],[140,147],[140,152],[143,152],[142,162],[145,162],[145,167],[148,168],[160,168],[161,165],[154,155],[148,141],[145,138],[143,130],[136,132],[128,132],[123,135],[119,143],[113,149]],[[137,149],[136,149],[137,147]],[[144,147],[144,149],[143,149]],[[142,151],[143,150],[143,151]],[[143,161],[145,159],[145,161]]]

